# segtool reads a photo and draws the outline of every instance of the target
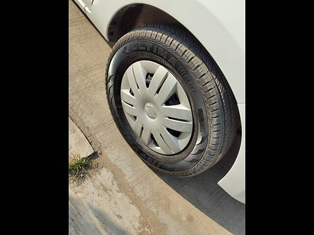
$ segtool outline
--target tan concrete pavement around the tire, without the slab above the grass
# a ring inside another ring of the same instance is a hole
[[[245,234],[245,205],[217,182],[235,160],[239,136],[227,156],[207,172],[177,179],[149,169],[116,128],[105,98],[111,48],[69,1],[69,116],[101,150],[104,167],[78,187],[69,185],[69,233],[112,235]]]

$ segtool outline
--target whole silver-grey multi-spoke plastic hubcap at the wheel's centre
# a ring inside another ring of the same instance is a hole
[[[120,94],[127,120],[143,144],[164,155],[183,151],[192,136],[193,115],[170,71],[152,61],[135,62],[123,75]]]

